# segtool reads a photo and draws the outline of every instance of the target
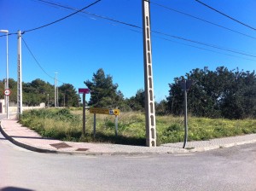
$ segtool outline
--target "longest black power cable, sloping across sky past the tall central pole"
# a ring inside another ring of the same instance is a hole
[[[65,8],[65,9],[77,10],[77,9],[74,9],[74,8],[70,8],[70,7],[61,5],[59,3],[51,3],[51,2],[46,1],[46,0],[37,0],[37,1],[44,2],[44,3],[49,3],[51,5],[55,5],[55,6],[58,6],[58,7],[61,7],[61,8]],[[98,14],[91,14],[91,13],[88,13],[88,12],[85,12],[85,11],[80,11],[80,12],[84,13],[84,14],[90,14],[90,15],[96,16],[96,17],[104,19],[104,20],[111,20],[113,22],[117,22],[117,23],[125,25],[125,26],[131,26],[131,27],[135,27],[135,28],[138,28],[138,29],[143,29],[143,27],[141,27],[141,26],[136,26],[136,25],[124,22],[124,21],[120,21],[120,20],[113,20],[113,19],[108,18],[106,16],[102,16],[102,15],[98,15]],[[204,45],[204,46],[207,46],[207,47],[211,47],[211,48],[214,48],[214,49],[222,49],[222,50],[229,51],[229,52],[232,52],[232,53],[236,53],[236,54],[239,54],[239,55],[247,55],[247,56],[251,56],[251,57],[256,57],[256,55],[249,55],[249,54],[243,53],[243,52],[241,52],[241,50],[224,48],[224,47],[220,47],[218,45],[214,45],[214,44],[210,44],[210,43],[202,43],[202,42],[195,41],[195,40],[192,40],[192,39],[189,39],[189,38],[178,37],[178,36],[174,36],[174,35],[167,34],[167,33],[164,33],[164,32],[158,32],[158,31],[153,31],[153,30],[151,30],[151,32],[154,32],[154,33],[157,33],[157,34],[160,34],[160,35],[164,35],[164,36],[167,36],[167,37],[171,37],[171,38],[177,38],[177,39],[180,39],[180,40],[183,40],[183,41],[187,41],[187,42],[190,42],[190,43],[201,44],[201,45]]]

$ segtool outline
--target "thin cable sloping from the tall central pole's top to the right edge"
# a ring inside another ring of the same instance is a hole
[[[196,19],[196,20],[201,20],[201,21],[206,22],[206,23],[208,23],[208,24],[211,24],[211,25],[213,25],[213,26],[218,26],[218,27],[220,27],[220,28],[224,28],[224,29],[226,29],[226,30],[228,30],[228,31],[230,31],[230,32],[236,32],[236,33],[241,34],[241,35],[243,35],[243,36],[246,36],[246,37],[248,37],[248,38],[256,39],[256,38],[254,38],[254,37],[252,37],[252,36],[250,36],[250,35],[247,35],[247,34],[245,34],[245,33],[237,32],[236,30],[230,29],[230,28],[228,28],[228,27],[226,27],[226,26],[218,25],[218,24],[213,23],[213,22],[208,21],[208,20],[201,19],[201,18],[199,18],[199,17],[197,17],[197,16],[194,16],[194,15],[192,15],[192,14],[186,14],[186,13],[184,13],[184,12],[182,12],[182,11],[179,11],[179,10],[176,10],[176,9],[172,9],[172,8],[169,8],[169,7],[166,7],[165,5],[162,5],[162,4],[160,4],[160,3],[154,3],[154,2],[152,2],[152,1],[151,1],[150,3],[153,3],[153,4],[155,4],[155,5],[159,6],[159,7],[162,7],[162,8],[164,8],[164,9],[172,10],[172,11],[178,13],[178,14],[183,14],[183,15],[189,16],[189,17],[191,17],[191,18],[194,18],[194,19]]]

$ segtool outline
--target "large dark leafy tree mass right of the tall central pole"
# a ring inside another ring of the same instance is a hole
[[[217,67],[215,71],[196,68],[169,84],[168,111],[183,113],[183,90],[178,82],[191,79],[194,84],[188,92],[189,112],[195,116],[211,118],[244,119],[256,117],[255,72],[228,70]]]

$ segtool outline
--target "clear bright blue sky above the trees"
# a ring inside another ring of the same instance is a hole
[[[82,9],[93,0],[46,0],[74,9]],[[201,0],[225,14],[256,27],[255,0]],[[191,14],[236,32],[210,25],[201,20],[165,9]],[[213,49],[201,44],[152,33],[154,95],[155,101],[168,96],[173,78],[199,67],[224,66],[230,70],[239,67],[253,71],[256,66],[256,32],[195,2],[195,0],[154,0],[151,9],[151,29],[172,36],[232,49],[243,54]],[[113,20],[142,26],[141,0],[102,0],[85,11]],[[44,26],[75,12],[52,6],[38,0],[0,0],[0,29],[21,32]],[[247,37],[237,32],[249,35]],[[0,35],[3,35],[1,33]],[[252,38],[253,37],[253,38]],[[143,83],[143,34],[142,30],[88,14],[75,14],[66,20],[42,29],[26,32],[24,40],[44,71],[54,77],[58,72],[61,82],[84,87],[84,80],[91,80],[93,72],[103,68],[119,84],[125,97],[135,96]],[[5,78],[6,38],[0,38],[0,78]],[[252,56],[248,56],[252,55]],[[16,80],[17,35],[9,36],[9,77]],[[38,67],[22,43],[23,81],[49,78]],[[59,83],[61,85],[61,83]]]

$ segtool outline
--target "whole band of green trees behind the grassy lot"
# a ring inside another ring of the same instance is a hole
[[[217,67],[215,71],[207,67],[195,68],[184,76],[174,78],[169,84],[169,96],[166,100],[155,103],[156,114],[183,115],[183,90],[179,82],[193,80],[188,92],[188,110],[192,116],[207,118],[245,119],[256,116],[256,75],[255,72],[229,70]],[[0,81],[3,92],[4,81]],[[84,84],[90,89],[90,107],[119,108],[121,111],[144,111],[144,90],[137,90],[135,96],[125,98],[118,90],[119,85],[113,83],[113,77],[106,75],[102,68],[93,73],[91,80]],[[9,79],[12,90],[10,101],[16,101],[16,82]],[[79,107],[80,97],[72,84],[62,84],[59,88],[60,107]],[[40,102],[54,106],[54,85],[35,79],[31,83],[23,83],[23,103],[27,106]],[[3,99],[3,94],[0,95]]]

